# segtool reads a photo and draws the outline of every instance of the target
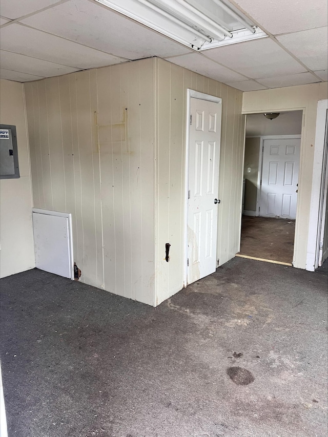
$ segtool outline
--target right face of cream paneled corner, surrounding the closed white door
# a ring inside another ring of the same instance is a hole
[[[187,89],[222,98],[217,258],[233,258],[240,248],[245,120],[242,92],[157,59],[156,95],[156,298],[162,302],[183,287]],[[170,262],[165,244],[170,243]]]

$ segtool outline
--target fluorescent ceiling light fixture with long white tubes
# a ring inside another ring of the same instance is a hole
[[[268,36],[221,0],[95,0],[194,50]]]

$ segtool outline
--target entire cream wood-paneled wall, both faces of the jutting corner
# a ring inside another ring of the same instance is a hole
[[[188,88],[222,98],[223,264],[240,244],[241,91],[156,58],[25,85],[34,206],[72,213],[81,280],[150,305],[183,287]]]

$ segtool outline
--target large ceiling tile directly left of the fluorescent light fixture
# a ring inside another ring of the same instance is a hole
[[[190,51],[88,0],[71,0],[26,18],[23,23],[127,59],[174,56]]]

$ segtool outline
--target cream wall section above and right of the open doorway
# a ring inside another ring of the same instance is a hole
[[[293,260],[294,266],[298,268],[306,268],[317,103],[318,100],[324,99],[326,96],[327,82],[272,90],[250,91],[243,94],[242,111],[245,114],[303,110]]]

